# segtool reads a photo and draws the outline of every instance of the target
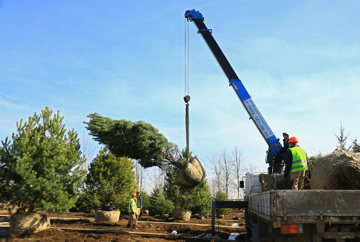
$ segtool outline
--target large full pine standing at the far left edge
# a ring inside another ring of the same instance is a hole
[[[52,113],[46,107],[28,122],[17,122],[13,143],[1,141],[0,204],[9,202],[18,212],[65,212],[74,205],[86,159],[76,131],[66,131],[64,117]]]

